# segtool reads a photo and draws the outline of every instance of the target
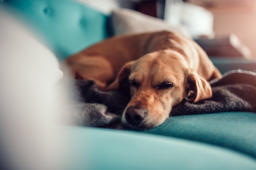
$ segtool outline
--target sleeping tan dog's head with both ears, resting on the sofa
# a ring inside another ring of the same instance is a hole
[[[125,64],[114,84],[118,88],[129,84],[131,101],[122,123],[140,129],[163,123],[172,107],[185,98],[195,103],[212,95],[208,82],[175,51],[153,52]]]

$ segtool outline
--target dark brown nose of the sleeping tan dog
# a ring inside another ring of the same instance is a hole
[[[125,112],[125,119],[127,123],[132,126],[139,125],[145,118],[147,111],[138,107],[128,107]]]

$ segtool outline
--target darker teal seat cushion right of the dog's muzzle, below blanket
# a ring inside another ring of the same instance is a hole
[[[173,116],[160,126],[142,132],[218,145],[256,158],[256,113]]]

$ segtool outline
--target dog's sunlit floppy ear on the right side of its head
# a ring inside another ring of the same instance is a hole
[[[199,102],[200,100],[211,98],[212,90],[210,84],[197,73],[189,71],[188,85],[189,91],[192,91],[187,97],[191,103]]]

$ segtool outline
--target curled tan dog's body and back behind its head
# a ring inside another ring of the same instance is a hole
[[[73,78],[79,74],[80,78],[94,80],[104,89],[125,63],[166,49],[180,53],[189,67],[206,80],[221,76],[198,44],[168,31],[112,37],[70,56],[64,64],[70,68]]]

